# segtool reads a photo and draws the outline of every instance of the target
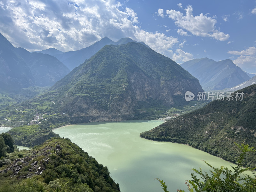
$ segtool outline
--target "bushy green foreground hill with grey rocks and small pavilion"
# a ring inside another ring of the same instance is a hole
[[[30,150],[10,153],[1,158],[0,166],[1,191],[120,191],[108,168],[68,138],[52,138]]]

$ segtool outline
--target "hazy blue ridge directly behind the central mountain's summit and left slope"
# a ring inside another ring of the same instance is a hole
[[[78,67],[80,64],[84,63],[85,60],[92,57],[92,55],[94,55],[96,52],[100,51],[100,49],[103,48],[105,45],[110,45],[110,44],[120,45],[120,44],[127,44],[129,42],[136,42],[136,41],[127,37],[127,38],[121,38],[117,42],[114,42],[108,37],[104,37],[100,41],[90,45],[89,47],[86,47],[77,51],[61,52],[55,48],[50,48],[50,49],[37,51],[37,52],[47,53],[56,57],[64,65],[66,65],[71,71],[75,67]],[[137,43],[141,43],[148,47],[148,45],[146,45],[143,42],[137,42]]]

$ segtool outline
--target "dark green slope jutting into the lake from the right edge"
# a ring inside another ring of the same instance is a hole
[[[243,99],[214,100],[201,109],[141,133],[140,137],[188,144],[236,163],[235,142],[256,145],[256,84],[237,92],[244,93]],[[255,159],[255,153],[245,158],[251,167],[255,167]]]

